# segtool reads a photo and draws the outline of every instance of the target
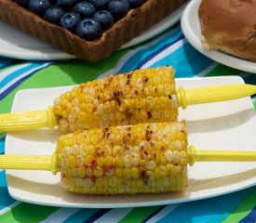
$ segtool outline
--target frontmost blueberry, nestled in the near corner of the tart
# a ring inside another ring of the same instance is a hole
[[[93,41],[101,36],[101,25],[93,19],[81,20],[76,28],[76,33],[85,40]]]

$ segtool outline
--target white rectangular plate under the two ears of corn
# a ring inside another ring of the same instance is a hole
[[[244,83],[238,76],[177,78],[177,87]],[[70,86],[28,89],[17,93],[12,112],[46,109]],[[256,151],[256,113],[251,99],[194,105],[180,112],[188,125],[190,144],[197,149]],[[8,133],[7,154],[52,154],[58,130]],[[256,185],[255,163],[197,163],[188,168],[188,188],[181,193],[87,196],[67,192],[60,175],[44,171],[7,171],[10,195],[20,201],[69,207],[133,207],[183,203],[226,194]]]

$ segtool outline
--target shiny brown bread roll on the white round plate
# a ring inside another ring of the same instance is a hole
[[[205,49],[256,62],[255,0],[202,0],[198,17]]]

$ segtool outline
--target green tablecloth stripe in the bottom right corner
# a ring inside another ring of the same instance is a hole
[[[223,223],[239,222],[245,216],[248,216],[249,212],[255,206],[255,201],[256,201],[256,190],[250,193],[249,196],[245,198],[245,200],[236,207],[234,212],[224,219]]]

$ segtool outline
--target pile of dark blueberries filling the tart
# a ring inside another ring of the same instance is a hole
[[[146,0],[14,0],[44,20],[94,41]]]

